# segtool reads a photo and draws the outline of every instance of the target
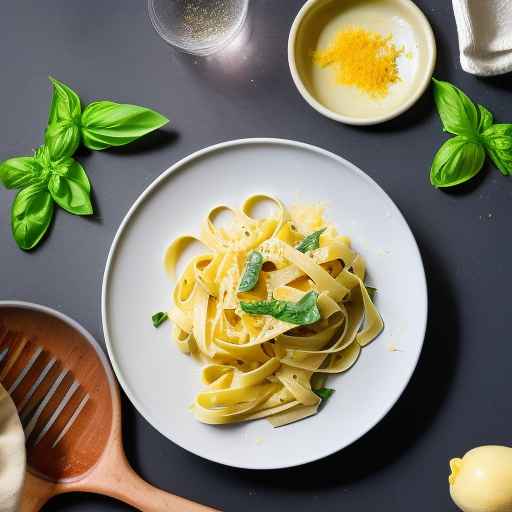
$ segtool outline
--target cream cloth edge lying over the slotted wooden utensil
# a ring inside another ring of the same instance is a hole
[[[16,512],[25,477],[25,436],[16,407],[0,384],[0,512]]]

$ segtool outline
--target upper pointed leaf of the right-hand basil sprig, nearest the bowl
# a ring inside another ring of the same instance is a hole
[[[479,114],[475,104],[454,85],[435,78],[432,80],[434,100],[443,129],[455,135],[477,134]]]

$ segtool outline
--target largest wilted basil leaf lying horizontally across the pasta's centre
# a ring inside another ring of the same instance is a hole
[[[317,305],[318,293],[310,291],[299,302],[285,300],[262,300],[240,302],[240,307],[250,315],[270,315],[277,320],[296,325],[308,325],[320,320]]]

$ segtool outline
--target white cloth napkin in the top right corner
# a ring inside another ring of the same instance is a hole
[[[512,0],[452,0],[462,69],[473,75],[512,71]]]

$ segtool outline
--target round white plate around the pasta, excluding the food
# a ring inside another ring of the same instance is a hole
[[[166,246],[198,232],[219,203],[240,205],[254,193],[285,203],[325,201],[349,235],[378,288],[385,330],[347,373],[331,377],[337,392],[316,416],[273,429],[267,421],[211,426],[189,411],[200,389],[199,367],[155,329],[151,315],[170,303],[162,268]],[[392,407],[416,366],[427,319],[418,247],[386,193],[342,158],[314,146],[248,139],[203,149],[156,179],[132,206],[112,244],[103,280],[103,329],[116,375],[138,411],[157,430],[201,457],[229,466],[283,468],[325,457],[361,437]],[[389,344],[400,349],[391,352]]]

